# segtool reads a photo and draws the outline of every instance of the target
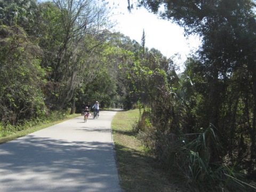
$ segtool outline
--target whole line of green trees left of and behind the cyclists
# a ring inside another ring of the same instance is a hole
[[[132,60],[140,44],[111,31],[114,22],[107,5],[0,2],[1,135],[53,113],[80,113],[83,102],[98,100],[108,108],[129,98],[131,81],[119,65]],[[125,108],[132,107],[132,100],[125,103]]]

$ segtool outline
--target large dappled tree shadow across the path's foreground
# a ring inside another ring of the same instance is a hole
[[[0,190],[108,191],[116,175],[113,147],[111,142],[70,142],[33,135],[3,143]]]

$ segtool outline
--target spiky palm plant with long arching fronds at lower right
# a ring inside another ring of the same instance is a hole
[[[240,178],[238,172],[228,165],[213,163],[212,156],[221,156],[222,151],[214,129],[215,127],[210,125],[204,132],[198,133],[198,137],[191,142],[183,142],[184,146],[177,151],[178,161],[175,161],[179,167],[179,174],[186,179],[191,191],[245,190],[241,183],[230,179]],[[186,137],[194,137],[194,134]]]

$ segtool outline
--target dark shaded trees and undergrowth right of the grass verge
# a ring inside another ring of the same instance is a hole
[[[199,35],[202,45],[182,74],[148,53],[132,68],[143,109],[136,131],[191,190],[255,190],[231,179],[256,173],[255,1],[146,0],[138,6],[178,23],[185,35]]]

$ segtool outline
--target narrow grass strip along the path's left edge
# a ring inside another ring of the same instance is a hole
[[[23,136],[25,136],[25,135],[27,135],[29,133],[33,133],[35,131],[39,131],[39,130],[45,129],[46,127],[49,127],[49,126],[61,123],[63,121],[67,121],[68,119],[75,118],[75,117],[77,117],[79,115],[81,115],[81,114],[68,115],[66,118],[60,119],[58,121],[54,121],[54,122],[50,122],[50,123],[45,123],[45,124],[37,125],[37,126],[32,126],[32,127],[29,127],[28,129],[15,132],[15,133],[13,133],[11,135],[8,135],[6,137],[1,137],[0,138],[0,144],[8,142],[8,141],[11,141],[11,140],[14,140],[14,139],[17,139],[17,138],[20,138],[20,137],[23,137]]]

